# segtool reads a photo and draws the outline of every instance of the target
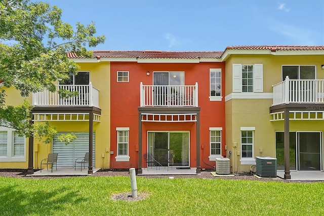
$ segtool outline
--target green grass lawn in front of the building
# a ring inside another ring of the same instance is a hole
[[[0,177],[0,215],[324,214],[324,183],[137,177],[137,188],[150,195],[114,201],[130,177]]]

